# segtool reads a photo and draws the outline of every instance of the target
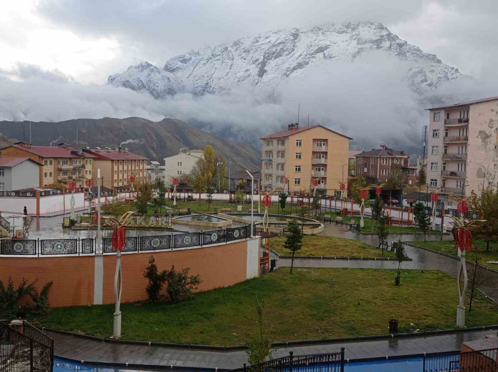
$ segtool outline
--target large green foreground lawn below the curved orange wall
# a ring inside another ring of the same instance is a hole
[[[258,334],[254,295],[265,300],[263,329],[272,341],[386,334],[389,318],[399,320],[400,332],[455,328],[454,278],[439,271],[402,270],[395,286],[395,275],[396,270],[330,268],[294,268],[289,275],[288,268],[280,268],[178,304],[124,303],[122,334],[127,340],[243,344]],[[30,321],[109,337],[113,312],[114,304],[60,307]],[[497,323],[497,305],[477,293],[466,326]]]

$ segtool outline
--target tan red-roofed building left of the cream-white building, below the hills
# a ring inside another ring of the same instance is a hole
[[[123,189],[130,186],[129,178],[133,176],[136,182],[147,181],[146,167],[148,159],[133,154],[128,149],[111,149],[106,147],[101,149],[85,148],[83,152],[92,155],[93,173],[97,177],[97,169],[100,169],[100,176],[104,179],[103,186],[110,189]]]

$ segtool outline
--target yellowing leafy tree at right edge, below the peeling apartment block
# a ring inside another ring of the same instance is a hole
[[[478,212],[486,222],[481,224],[477,235],[486,239],[486,251],[490,250],[490,241],[498,240],[498,190],[488,186],[483,188],[481,195],[472,190],[469,206],[472,211]]]

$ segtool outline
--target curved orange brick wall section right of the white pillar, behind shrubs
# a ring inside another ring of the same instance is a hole
[[[122,255],[122,302],[147,298],[147,279],[143,272],[149,257],[154,256],[159,271],[190,268],[190,275],[200,274],[202,283],[198,290],[208,290],[232,285],[247,278],[247,241],[219,246],[165,252],[148,252]],[[104,256],[103,303],[114,303],[114,274],[116,256]]]

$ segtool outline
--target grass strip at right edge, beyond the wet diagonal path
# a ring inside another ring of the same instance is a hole
[[[446,253],[447,255],[458,257],[458,248],[454,248],[454,240],[428,240],[424,242],[409,242],[410,244],[417,245],[432,249],[433,251]],[[488,264],[488,261],[498,261],[498,242],[490,242],[490,250],[486,251],[486,240],[473,239],[472,245],[477,248],[479,265],[486,268],[498,270],[498,264]],[[474,262],[474,251],[466,251],[466,259],[468,262]]]

